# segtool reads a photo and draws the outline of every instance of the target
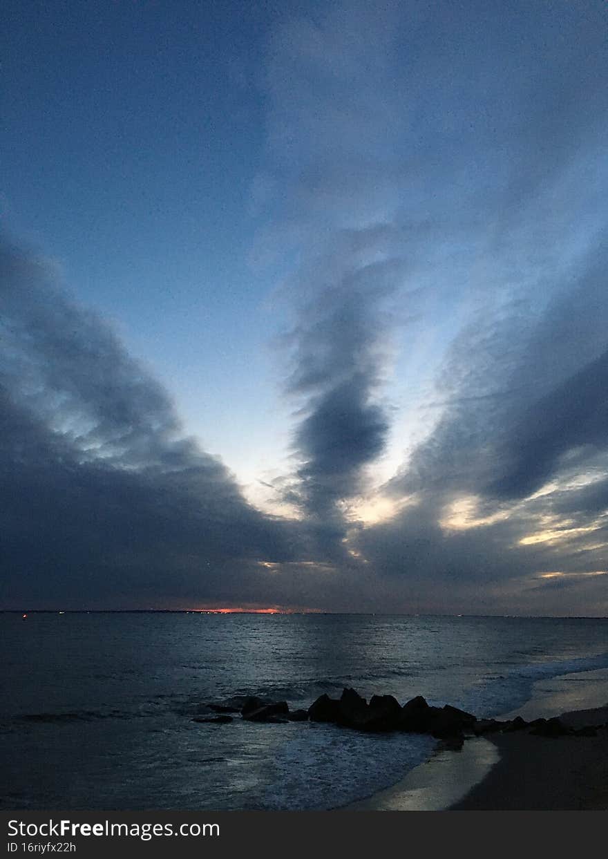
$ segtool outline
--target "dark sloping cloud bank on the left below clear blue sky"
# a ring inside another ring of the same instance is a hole
[[[3,241],[0,274],[5,605],[238,600],[258,561],[293,558],[297,533],[183,436],[167,393],[48,265]]]

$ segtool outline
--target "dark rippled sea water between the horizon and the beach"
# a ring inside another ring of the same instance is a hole
[[[327,808],[434,745],[313,723],[192,722],[234,693],[292,709],[344,685],[496,716],[535,680],[608,666],[608,621],[0,614],[4,808]]]

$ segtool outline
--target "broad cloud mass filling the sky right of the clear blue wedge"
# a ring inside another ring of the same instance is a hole
[[[539,570],[601,565],[603,480],[563,490],[606,439],[606,47],[587,11],[372,22],[350,3],[271,39],[260,242],[295,315],[289,500],[368,606],[500,610],[520,588],[538,607]],[[350,511],[399,421],[408,455],[366,526]]]

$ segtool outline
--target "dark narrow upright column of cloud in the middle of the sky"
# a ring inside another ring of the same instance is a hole
[[[384,302],[403,275],[391,238],[382,226],[341,231],[298,281],[306,301],[286,338],[288,391],[303,399],[304,417],[295,430],[301,466],[291,493],[308,515],[339,518],[337,505],[364,488],[364,466],[385,445],[388,416],[377,399],[389,351]],[[367,261],[378,254],[384,259]]]

